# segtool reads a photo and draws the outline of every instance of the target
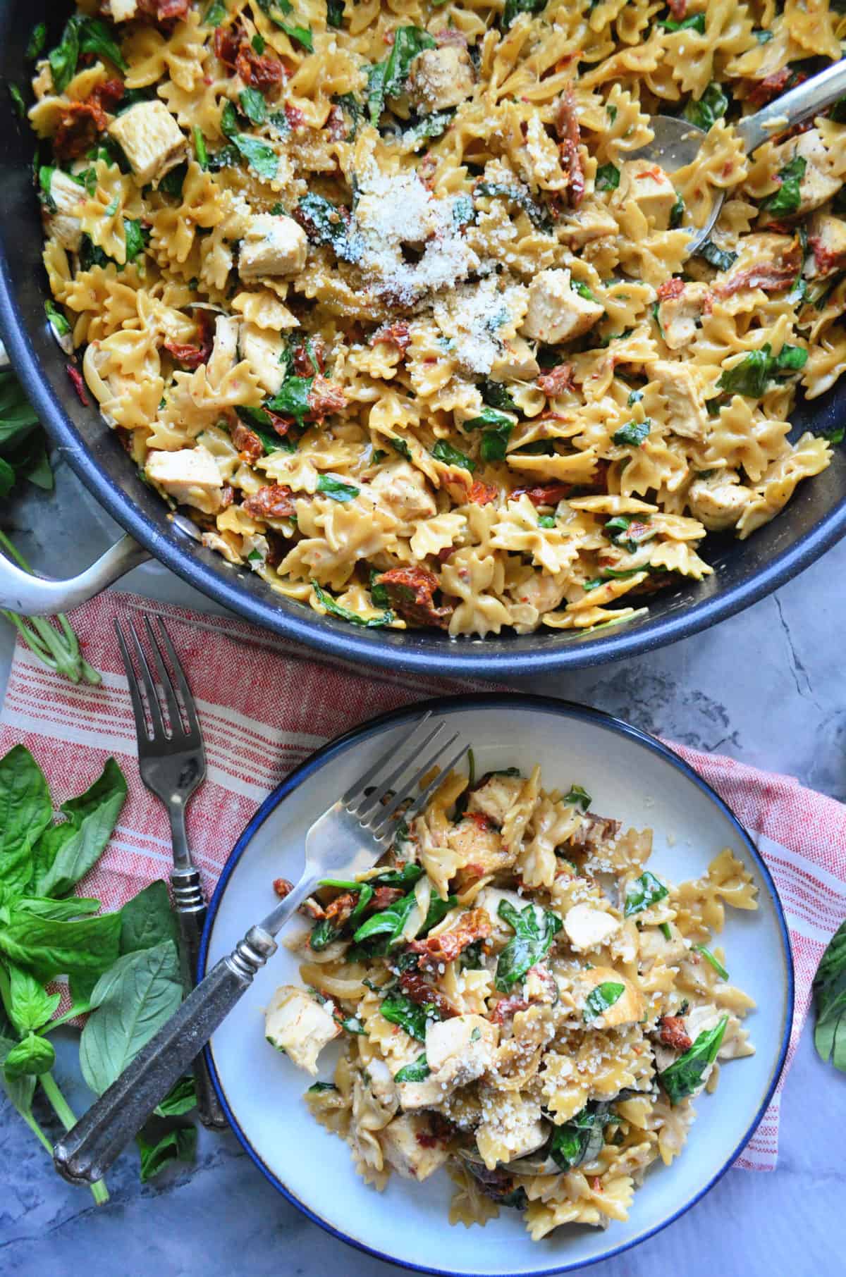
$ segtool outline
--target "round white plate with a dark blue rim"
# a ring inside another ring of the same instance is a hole
[[[647,1172],[626,1223],[606,1230],[562,1227],[529,1240],[519,1212],[504,1209],[486,1227],[450,1227],[452,1183],[438,1171],[424,1184],[392,1176],[377,1193],[355,1174],[349,1149],[311,1116],[302,1096],[308,1074],[263,1037],[262,1008],[277,985],[299,983],[284,949],[258,973],[211,1041],[221,1098],[245,1151],[309,1218],[381,1259],[429,1272],[567,1272],[604,1259],[670,1223],[735,1161],[769,1102],[785,1059],[794,982],[787,930],[772,879],[749,836],[714,792],[658,741],[596,710],[532,696],[452,697],[427,702],[449,715],[473,744],[477,774],[539,762],[547,788],[584,785],[594,811],[654,829],[650,868],[671,881],[695,877],[723,848],[751,871],[755,913],[727,909],[721,936],[732,983],[758,1004],[748,1025],[755,1055],[731,1062],[672,1166]],[[210,908],[201,968],[227,954],[272,908],[272,881],[296,880],[308,825],[383,751],[423,705],[385,715],[325,746],[270,796],[244,830]],[[328,1056],[328,1052],[327,1052]],[[326,1060],[321,1077],[331,1078]]]

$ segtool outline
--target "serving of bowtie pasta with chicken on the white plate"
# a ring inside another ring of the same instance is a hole
[[[626,1218],[717,1061],[753,1054],[754,1002],[708,948],[726,904],[757,908],[749,873],[726,849],[672,886],[650,852],[539,767],[451,774],[382,865],[305,903],[305,987],[276,991],[265,1032],[312,1075],[341,1038],[305,1098],[368,1184],[446,1166],[452,1223],[514,1207],[535,1240]]]

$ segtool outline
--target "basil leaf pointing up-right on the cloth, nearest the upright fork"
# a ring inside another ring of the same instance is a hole
[[[115,760],[109,759],[102,775],[84,794],[63,803],[66,825],[47,831],[47,856],[41,850],[42,844],[35,849],[38,867],[33,881],[36,895],[66,895],[88,872],[109,844],[125,797],[124,775]]]

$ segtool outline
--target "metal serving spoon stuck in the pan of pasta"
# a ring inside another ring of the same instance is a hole
[[[757,151],[762,142],[778,133],[786,133],[794,124],[801,124],[809,116],[817,115],[843,94],[846,94],[846,57],[833,66],[827,66],[819,75],[813,75],[796,88],[791,88],[782,97],[768,102],[754,115],[737,120],[735,129],[740,134],[746,155]],[[707,137],[704,129],[676,115],[653,115],[649,123],[654,133],[652,142],[634,151],[629,158],[650,160],[661,165],[666,172],[675,172],[676,169],[684,169],[685,165],[694,162]],[[690,232],[688,253],[695,253],[708,239],[719,217],[723,199],[725,192],[717,190],[708,221]]]

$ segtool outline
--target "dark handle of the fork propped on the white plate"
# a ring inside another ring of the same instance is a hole
[[[275,951],[270,932],[250,927],[233,953],[212,967],[118,1080],[54,1147],[55,1167],[65,1180],[93,1184],[102,1179]]]

